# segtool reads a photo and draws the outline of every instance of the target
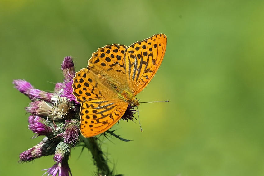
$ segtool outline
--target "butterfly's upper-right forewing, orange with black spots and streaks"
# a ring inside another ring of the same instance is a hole
[[[124,60],[127,82],[134,95],[142,91],[157,72],[166,44],[166,35],[156,34],[126,48]]]

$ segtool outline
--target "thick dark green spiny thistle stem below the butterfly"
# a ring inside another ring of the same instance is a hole
[[[98,146],[96,138],[95,137],[84,138],[82,136],[81,140],[83,140],[85,146],[93,155],[93,161],[94,161],[94,165],[96,165],[97,167],[98,175],[107,175],[107,176],[112,175],[112,172],[110,171],[109,166],[107,165],[107,161],[103,156],[103,152],[101,148]]]

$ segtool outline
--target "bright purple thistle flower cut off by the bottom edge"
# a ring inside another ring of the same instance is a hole
[[[47,170],[44,174],[48,174],[48,176],[49,175],[56,176],[57,174],[58,176],[69,176],[69,173],[71,174],[71,169],[68,165],[68,162],[56,163],[51,168],[44,170]]]

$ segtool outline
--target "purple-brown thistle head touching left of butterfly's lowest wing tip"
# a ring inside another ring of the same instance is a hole
[[[75,124],[68,124],[65,129],[63,133],[64,142],[75,146],[80,139],[80,129]]]

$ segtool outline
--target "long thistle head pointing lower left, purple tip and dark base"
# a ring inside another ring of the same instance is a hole
[[[36,158],[40,158],[41,156],[52,155],[55,151],[54,144],[51,140],[48,140],[47,137],[43,138],[41,142],[39,142],[36,146],[24,151],[20,154],[20,162],[28,162],[32,161]]]

